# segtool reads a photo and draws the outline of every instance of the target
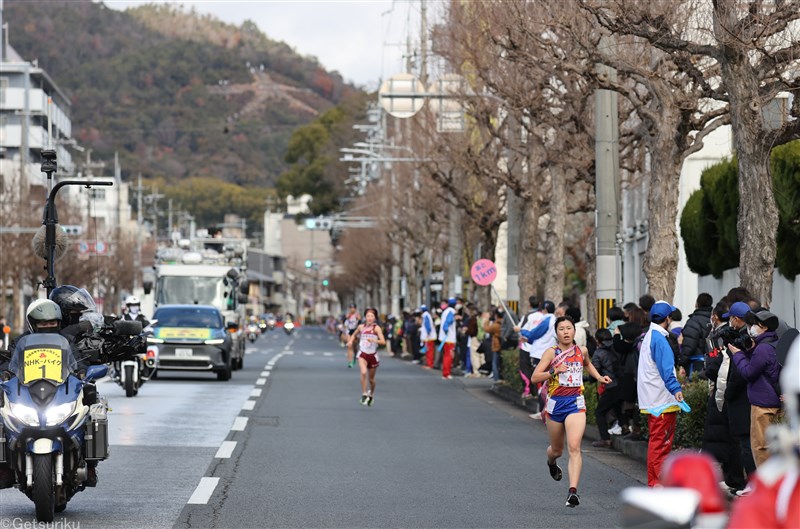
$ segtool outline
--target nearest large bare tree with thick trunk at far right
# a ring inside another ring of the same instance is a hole
[[[680,114],[690,115],[689,123],[694,126],[687,129],[683,126],[685,119],[676,122],[663,116],[659,126],[672,132],[677,142],[683,142],[692,130],[703,130],[695,122],[702,119],[708,124],[709,115],[716,113],[731,123],[739,159],[739,273],[742,285],[768,303],[778,226],[769,154],[773,147],[800,137],[800,100],[795,97],[784,116],[791,119],[777,124],[770,119],[768,109],[780,92],[800,88],[800,0],[712,0],[710,6],[689,0],[580,3],[610,31],[661,50],[674,67],[670,68],[672,73],[658,71],[657,75],[662,81],[668,79],[665,74],[679,80],[681,85],[675,87],[678,93],[686,93],[687,88],[695,92],[702,89],[704,97],[724,104],[701,114],[698,111],[702,109],[689,105],[691,101],[679,100]],[[667,94],[652,90],[655,86],[649,88],[663,108]],[[723,116],[723,112],[730,114]],[[641,115],[647,119],[645,112]],[[695,136],[695,144],[702,135]],[[651,241],[652,236],[651,227]]]

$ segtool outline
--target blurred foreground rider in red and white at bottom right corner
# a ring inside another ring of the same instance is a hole
[[[752,493],[733,504],[729,529],[800,526],[800,337],[780,376],[788,424],[771,427],[773,455],[751,477]]]

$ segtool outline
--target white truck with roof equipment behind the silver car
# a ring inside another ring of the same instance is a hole
[[[246,239],[198,237],[156,254],[153,276],[144,282],[152,293],[153,310],[160,305],[188,304],[216,307],[225,317],[233,340],[231,367],[244,365],[247,303]]]

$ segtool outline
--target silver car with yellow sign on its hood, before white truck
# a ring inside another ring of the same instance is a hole
[[[162,305],[153,314],[148,347],[158,347],[158,370],[212,371],[229,380],[234,365],[233,340],[222,313],[210,305]],[[231,324],[235,327],[235,324]]]

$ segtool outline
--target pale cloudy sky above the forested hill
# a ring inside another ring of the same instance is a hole
[[[370,89],[378,87],[379,79],[404,71],[406,37],[419,35],[419,0],[158,1],[192,6],[237,26],[252,20],[269,38],[317,57],[325,69]],[[114,9],[146,3],[105,0]]]

